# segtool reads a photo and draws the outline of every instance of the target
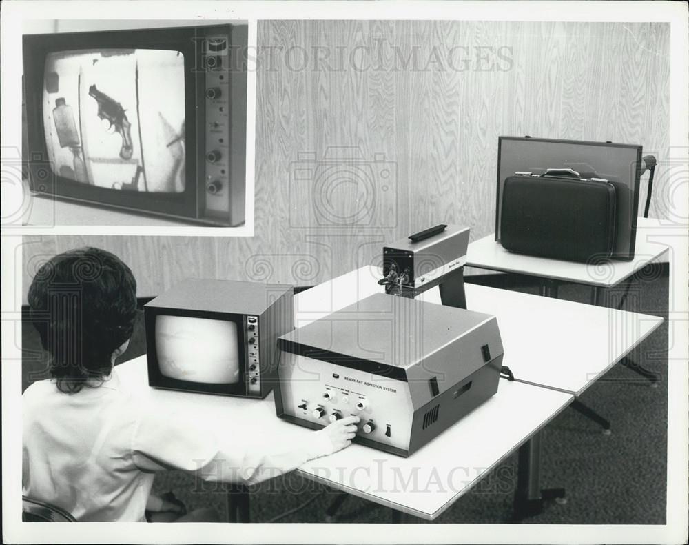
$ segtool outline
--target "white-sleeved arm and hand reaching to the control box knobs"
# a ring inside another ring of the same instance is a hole
[[[132,430],[131,452],[134,464],[144,471],[181,469],[198,472],[207,481],[251,484],[349,446],[358,421],[356,416],[343,418],[296,443],[280,444],[222,437],[182,415],[163,417],[154,408],[141,408]]]

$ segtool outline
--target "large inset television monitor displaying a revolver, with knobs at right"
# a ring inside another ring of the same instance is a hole
[[[245,221],[246,24],[23,37],[34,193]]]

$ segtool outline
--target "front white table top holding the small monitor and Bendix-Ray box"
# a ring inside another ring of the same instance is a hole
[[[276,417],[273,395],[263,400],[156,390],[147,386],[145,356],[117,366],[127,388],[152,403],[194,418],[227,422],[228,433],[260,433],[297,444],[307,428]],[[573,396],[500,380],[497,393],[408,458],[353,444],[297,471],[347,493],[432,520],[477,484],[572,401]],[[258,431],[257,431],[258,430]]]

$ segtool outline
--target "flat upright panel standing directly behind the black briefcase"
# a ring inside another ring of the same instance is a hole
[[[613,259],[634,259],[641,177],[641,146],[611,142],[500,137],[497,144],[495,240],[500,241],[500,210],[505,179],[515,172],[544,174],[571,168],[582,178],[604,178],[615,186],[616,242]]]

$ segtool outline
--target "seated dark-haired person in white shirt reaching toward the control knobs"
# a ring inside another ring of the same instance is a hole
[[[134,330],[136,280],[110,252],[53,257],[34,276],[28,302],[52,378],[22,396],[23,495],[78,521],[217,521],[212,509],[185,514],[174,496],[152,495],[154,475],[181,469],[209,481],[260,482],[345,448],[355,435],[358,417],[347,417],[298,445],[249,446],[125,391],[113,367]]]

